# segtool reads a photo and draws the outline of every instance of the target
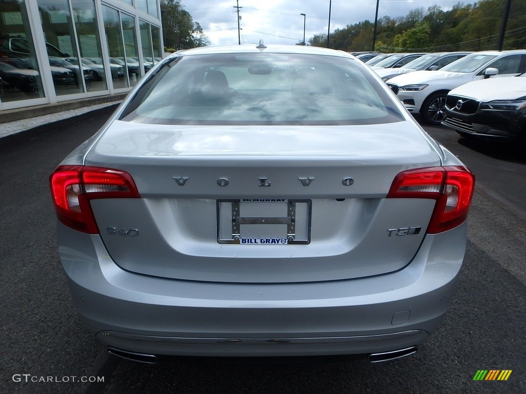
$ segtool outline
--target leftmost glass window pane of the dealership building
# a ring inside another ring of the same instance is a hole
[[[0,0],[0,100],[44,96],[24,1]]]

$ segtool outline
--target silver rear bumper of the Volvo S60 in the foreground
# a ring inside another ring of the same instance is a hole
[[[426,340],[449,307],[466,227],[426,236],[395,273],[293,284],[137,275],[118,267],[97,235],[59,224],[58,239],[79,317],[107,346],[155,355],[321,356]]]

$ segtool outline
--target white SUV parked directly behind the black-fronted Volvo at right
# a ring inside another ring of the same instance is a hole
[[[477,52],[437,71],[414,71],[393,77],[387,84],[409,112],[439,125],[446,117],[448,92],[472,80],[487,78],[488,68],[496,68],[497,77],[518,75],[526,71],[526,50]]]

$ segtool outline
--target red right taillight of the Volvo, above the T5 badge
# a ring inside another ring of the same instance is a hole
[[[475,184],[466,167],[432,167],[399,173],[387,198],[434,199],[433,214],[427,233],[453,229],[468,216]]]

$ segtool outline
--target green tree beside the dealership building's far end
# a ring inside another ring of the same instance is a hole
[[[161,0],[163,37],[167,48],[175,50],[210,45],[199,23],[181,5],[180,0]]]

